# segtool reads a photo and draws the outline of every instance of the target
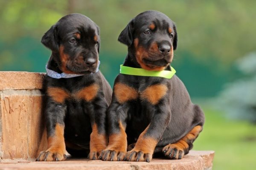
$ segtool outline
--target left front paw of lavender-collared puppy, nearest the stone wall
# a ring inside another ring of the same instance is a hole
[[[64,161],[67,159],[65,151],[49,148],[46,151],[41,151],[35,161]]]

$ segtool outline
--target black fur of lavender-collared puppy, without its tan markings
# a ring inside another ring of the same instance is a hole
[[[94,39],[95,36],[97,40]],[[56,124],[64,125],[67,151],[73,156],[87,156],[90,151],[92,126],[96,124],[99,134],[106,135],[105,112],[111,102],[112,93],[102,73],[96,72],[99,60],[99,27],[82,14],[69,14],[53,25],[44,34],[41,42],[52,50],[47,68],[58,73],[84,74],[67,79],[49,76],[44,79],[48,138],[54,136]],[[69,58],[66,63],[61,61],[61,48],[62,53]],[[95,61],[95,64],[89,65],[88,59]],[[93,84],[99,85],[99,90],[92,101],[72,96],[61,103],[56,102],[47,92],[48,88],[58,88],[72,95]],[[76,147],[70,147],[70,143]],[[38,161],[39,157],[40,155]]]

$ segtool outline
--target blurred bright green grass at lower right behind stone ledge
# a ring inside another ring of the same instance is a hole
[[[256,170],[256,126],[229,120],[210,107],[194,150],[215,150],[213,170]]]

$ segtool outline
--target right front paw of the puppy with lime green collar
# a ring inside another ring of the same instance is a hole
[[[150,162],[152,160],[151,153],[143,153],[141,150],[128,151],[125,155],[124,161],[146,161]]]

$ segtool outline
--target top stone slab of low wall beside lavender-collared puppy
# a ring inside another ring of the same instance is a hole
[[[44,73],[0,71],[0,91],[41,89]]]

